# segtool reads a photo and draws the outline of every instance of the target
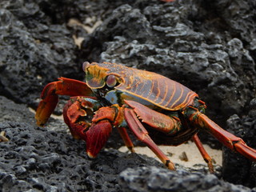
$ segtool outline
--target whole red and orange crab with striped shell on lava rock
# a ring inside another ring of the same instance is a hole
[[[109,62],[85,62],[83,70],[86,82],[59,78],[46,85],[35,118],[38,126],[43,126],[58,104],[58,94],[72,96],[64,107],[64,120],[74,138],[86,141],[91,158],[117,128],[131,152],[134,145],[126,129],[145,142],[170,170],[175,169],[174,164],[157,144],[178,146],[192,138],[214,172],[198,130],[206,130],[231,150],[256,161],[256,150],[207,118],[205,103],[186,86],[160,74]]]

